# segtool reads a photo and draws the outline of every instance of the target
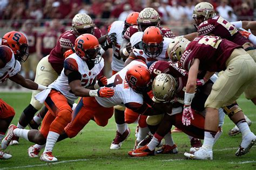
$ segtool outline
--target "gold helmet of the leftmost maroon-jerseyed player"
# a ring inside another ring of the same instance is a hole
[[[77,13],[72,19],[72,29],[77,36],[84,33],[94,34],[95,24],[92,18],[86,13]]]

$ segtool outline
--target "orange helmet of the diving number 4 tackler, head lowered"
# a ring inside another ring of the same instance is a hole
[[[125,75],[129,86],[137,93],[148,92],[151,89],[151,76],[149,70],[142,65],[131,66]]]

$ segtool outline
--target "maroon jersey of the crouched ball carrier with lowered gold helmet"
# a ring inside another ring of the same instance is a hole
[[[174,77],[178,85],[176,87],[176,96],[174,101],[184,100],[185,87],[187,84],[187,77],[188,77],[188,74],[186,71],[180,69],[177,66],[177,64],[173,64],[172,62],[166,62],[166,61],[154,62],[149,67],[149,71],[153,79],[160,73],[170,74],[172,77]]]

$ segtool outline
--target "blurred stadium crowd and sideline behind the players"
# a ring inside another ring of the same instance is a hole
[[[30,59],[27,62],[28,71],[22,70],[23,76],[33,80],[36,63],[49,54],[44,52],[42,46],[49,49],[55,47],[60,33],[71,29],[72,18],[77,13],[87,13],[91,16],[96,26],[107,33],[107,26],[113,21],[124,21],[132,11],[140,12],[143,8],[152,7],[161,16],[161,24],[170,28],[175,35],[185,35],[195,32],[193,26],[193,8],[200,0],[0,0],[0,37],[4,33],[17,30],[31,33],[29,36]],[[239,20],[254,21],[256,19],[255,0],[209,0],[214,5],[217,13],[234,22]],[[42,34],[51,32],[51,39],[43,39]],[[41,40],[40,40],[41,39]],[[111,76],[111,52],[105,53],[105,75]],[[17,89],[10,81],[0,86],[0,91]]]

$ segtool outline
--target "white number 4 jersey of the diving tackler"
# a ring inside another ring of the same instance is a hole
[[[100,98],[95,97],[97,102],[103,107],[112,107],[116,105],[125,106],[126,103],[139,103],[143,104],[143,96],[140,93],[134,92],[127,81],[125,80],[125,75],[127,70],[132,65],[146,65],[137,60],[133,60],[130,64],[125,66],[118,73],[114,74],[111,78],[107,79],[107,87],[112,87],[114,90],[114,96],[111,98]]]

